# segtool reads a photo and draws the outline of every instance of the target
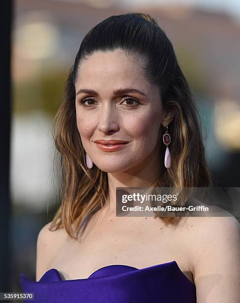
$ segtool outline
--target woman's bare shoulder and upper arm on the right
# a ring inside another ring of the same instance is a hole
[[[223,215],[189,220],[198,303],[239,302],[240,224],[229,212]]]

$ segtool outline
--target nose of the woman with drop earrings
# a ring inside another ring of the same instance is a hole
[[[111,104],[103,106],[99,110],[98,129],[104,133],[119,130],[117,113],[114,106],[111,106]]]

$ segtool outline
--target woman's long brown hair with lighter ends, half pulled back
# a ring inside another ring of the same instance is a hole
[[[80,63],[85,58],[96,51],[116,49],[142,60],[144,77],[159,87],[163,108],[171,107],[175,111],[168,127],[171,167],[165,169],[163,166],[160,178],[153,186],[181,188],[211,185],[196,101],[178,65],[171,42],[148,14],[111,16],[94,26],[83,38],[68,76],[63,103],[53,123],[54,165],[61,202],[50,230],[65,228],[74,239],[77,239],[74,227],[79,230],[84,225],[85,229],[91,216],[106,203],[108,197],[107,173],[96,165],[91,169],[86,167],[76,122],[75,82]],[[165,150],[164,147],[162,143],[162,150]],[[180,220],[180,217],[159,217],[165,223]]]

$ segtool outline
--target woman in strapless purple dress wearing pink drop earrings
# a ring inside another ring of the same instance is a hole
[[[91,29],[55,117],[61,205],[23,291],[37,302],[239,302],[232,215],[116,216],[117,187],[211,185],[198,119],[153,18],[123,14]]]

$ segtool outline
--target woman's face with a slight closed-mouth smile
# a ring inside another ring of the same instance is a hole
[[[160,161],[163,109],[159,89],[144,79],[140,59],[122,50],[98,51],[85,59],[76,81],[76,114],[83,148],[101,170],[139,170],[154,152]],[[103,151],[96,140],[127,143]]]

